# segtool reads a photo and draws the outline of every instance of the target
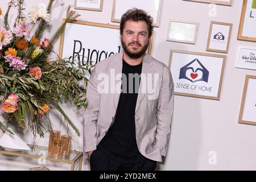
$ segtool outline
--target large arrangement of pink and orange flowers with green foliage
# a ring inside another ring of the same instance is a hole
[[[82,66],[68,60],[50,60],[53,44],[64,31],[65,24],[74,22],[79,15],[68,7],[67,16],[51,39],[43,32],[51,19],[51,7],[39,5],[24,17],[24,0],[12,0],[3,15],[4,26],[0,26],[0,104],[9,122],[16,122],[20,129],[31,129],[34,136],[44,136],[51,130],[49,111],[55,107],[65,122],[80,135],[71,119],[59,106],[60,102],[71,100],[78,109],[86,107],[85,88],[88,82],[85,74],[90,66]],[[18,9],[14,27],[9,26],[8,16],[12,7]],[[34,35],[32,35],[34,34]],[[0,121],[3,130],[13,134]]]

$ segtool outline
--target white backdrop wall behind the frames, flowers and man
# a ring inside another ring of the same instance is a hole
[[[3,12],[7,9],[9,0],[1,0],[0,7]],[[39,2],[48,3],[46,0],[27,0],[27,10]],[[77,10],[80,20],[97,23],[111,22],[112,0],[104,0],[102,12]],[[52,19],[47,28],[47,38],[61,24],[65,17],[67,6],[73,7],[73,0],[56,0],[53,3]],[[175,111],[172,120],[172,133],[170,146],[164,163],[159,165],[160,170],[255,170],[256,169],[256,126],[238,124],[238,115],[242,98],[245,75],[256,75],[256,71],[234,68],[236,64],[237,47],[256,47],[254,42],[237,40],[238,26],[242,9],[242,0],[234,0],[232,7],[216,6],[216,16],[210,16],[209,4],[189,2],[181,0],[163,0],[160,24],[155,28],[154,42],[151,55],[168,65],[170,49],[185,51],[207,52],[207,38],[210,21],[233,23],[230,39],[230,47],[226,59],[224,78],[221,89],[220,101],[175,96]],[[15,18],[12,11],[10,19]],[[184,44],[167,42],[168,20],[179,19],[191,22],[199,22],[199,31],[196,44]],[[3,20],[0,18],[0,26]],[[13,23],[11,23],[13,24]],[[55,45],[55,51],[59,52],[59,42]],[[211,53],[211,52],[208,52]],[[222,54],[222,53],[216,53]],[[82,134],[83,111],[77,111],[70,104],[63,104],[64,110],[79,127]],[[67,131],[65,125],[60,126],[60,115],[52,110],[51,119],[54,129]],[[33,137],[29,130],[19,133],[27,142],[33,143]],[[77,137],[71,130],[71,135],[76,143],[76,150],[82,150],[82,137]],[[47,146],[48,134],[45,138],[36,138],[35,144]],[[72,149],[74,145],[72,144]],[[212,160],[213,159],[213,160]],[[16,161],[16,162],[14,162]],[[18,161],[18,162],[17,162]],[[20,162],[22,161],[22,162]],[[83,160],[82,169],[88,170],[88,160]],[[209,162],[210,161],[210,162]],[[216,163],[212,163],[216,162]],[[0,156],[0,169],[2,170],[27,170],[29,167],[42,166],[22,158],[10,158]],[[49,164],[50,169],[68,169],[60,164]]]

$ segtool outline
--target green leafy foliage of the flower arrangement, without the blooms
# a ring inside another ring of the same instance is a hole
[[[48,13],[51,12],[52,3],[54,0],[49,0],[47,7]],[[5,14],[5,28],[11,30],[8,24],[8,16],[11,7],[16,7],[18,15],[16,20],[24,20],[23,16],[24,0],[12,0],[9,3],[7,13]],[[13,34],[11,43],[3,46],[0,52],[0,104],[3,105],[6,100],[9,100],[10,94],[18,96],[18,102],[15,102],[18,107],[15,111],[7,112],[6,119],[10,122],[16,122],[21,130],[31,129],[34,136],[39,135],[44,137],[44,133],[51,130],[51,121],[49,113],[52,108],[63,115],[67,125],[71,126],[80,135],[79,130],[73,124],[64,110],[61,109],[60,103],[64,101],[72,101],[77,109],[85,108],[87,101],[85,97],[85,88],[88,79],[85,75],[90,75],[91,64],[81,65],[79,61],[71,61],[70,59],[49,60],[48,55],[52,52],[52,47],[59,39],[61,33],[65,30],[65,24],[74,22],[79,15],[75,15],[70,7],[67,10],[67,17],[59,29],[53,34],[49,40],[48,46],[36,46],[32,40],[26,40],[23,37],[17,37]],[[38,19],[39,26],[36,28],[35,37],[40,40],[43,37],[44,28],[47,25],[43,19]],[[19,49],[16,47],[16,42],[20,39],[26,40],[28,47]],[[36,48],[42,48],[42,52],[36,53]],[[16,50],[16,56],[26,64],[24,69],[15,69],[6,61],[5,51],[8,48]],[[35,52],[34,52],[35,51]],[[31,54],[34,52],[34,59],[31,59]],[[31,72],[31,68],[40,69],[40,77],[36,78],[35,72]],[[2,71],[1,71],[2,70]],[[0,127],[12,133],[0,121]]]

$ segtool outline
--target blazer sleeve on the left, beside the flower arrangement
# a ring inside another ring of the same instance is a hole
[[[100,105],[100,92],[98,92],[99,81],[98,67],[95,65],[88,85],[86,87],[87,108],[84,115],[84,152],[96,150],[97,147],[97,120]]]

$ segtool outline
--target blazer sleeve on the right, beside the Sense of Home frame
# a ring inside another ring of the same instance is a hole
[[[161,155],[166,156],[167,146],[171,133],[172,114],[174,113],[174,82],[171,71],[164,65],[163,80],[156,109],[156,146]]]

